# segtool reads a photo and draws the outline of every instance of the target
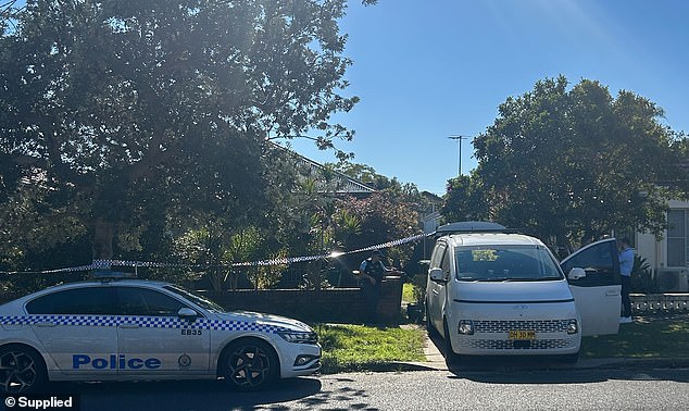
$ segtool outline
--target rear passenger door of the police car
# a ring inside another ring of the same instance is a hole
[[[64,374],[108,378],[117,373],[115,295],[112,287],[89,286],[40,296],[25,306],[32,328]]]

